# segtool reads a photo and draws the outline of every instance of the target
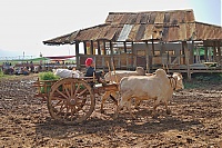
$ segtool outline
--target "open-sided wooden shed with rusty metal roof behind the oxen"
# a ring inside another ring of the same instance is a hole
[[[43,41],[48,46],[75,45],[77,66],[84,66],[91,57],[97,68],[135,69],[152,71],[168,66],[182,72],[208,72],[208,67],[195,63],[216,62],[214,72],[222,68],[222,27],[198,22],[193,10],[109,12],[103,24],[81,29]],[[80,47],[82,46],[82,47]],[[204,48],[204,56],[199,49]],[[80,49],[83,49],[81,53]],[[193,67],[193,69],[192,69]],[[190,72],[190,70],[193,70]]]

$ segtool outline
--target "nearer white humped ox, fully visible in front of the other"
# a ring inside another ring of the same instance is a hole
[[[167,114],[170,114],[168,101],[172,98],[173,90],[183,89],[182,75],[174,72],[169,77],[163,69],[155,70],[154,76],[131,76],[122,78],[120,81],[120,103],[117,108],[118,116],[120,109],[127,106],[130,115],[134,118],[131,111],[131,98],[139,100],[154,99],[153,117],[157,118],[155,109],[160,101],[164,102]]]

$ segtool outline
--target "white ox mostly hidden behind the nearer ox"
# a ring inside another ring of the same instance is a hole
[[[137,67],[135,71],[128,71],[128,70],[118,70],[115,72],[110,71],[105,73],[104,80],[111,83],[113,82],[118,83],[123,77],[129,77],[129,76],[145,76],[145,70],[142,67]],[[102,96],[102,102],[101,102],[101,109],[100,109],[102,114],[104,112],[104,109],[103,109],[104,101],[109,97],[115,102],[115,105],[118,105],[118,101],[115,100],[117,91],[114,90],[105,91]]]

